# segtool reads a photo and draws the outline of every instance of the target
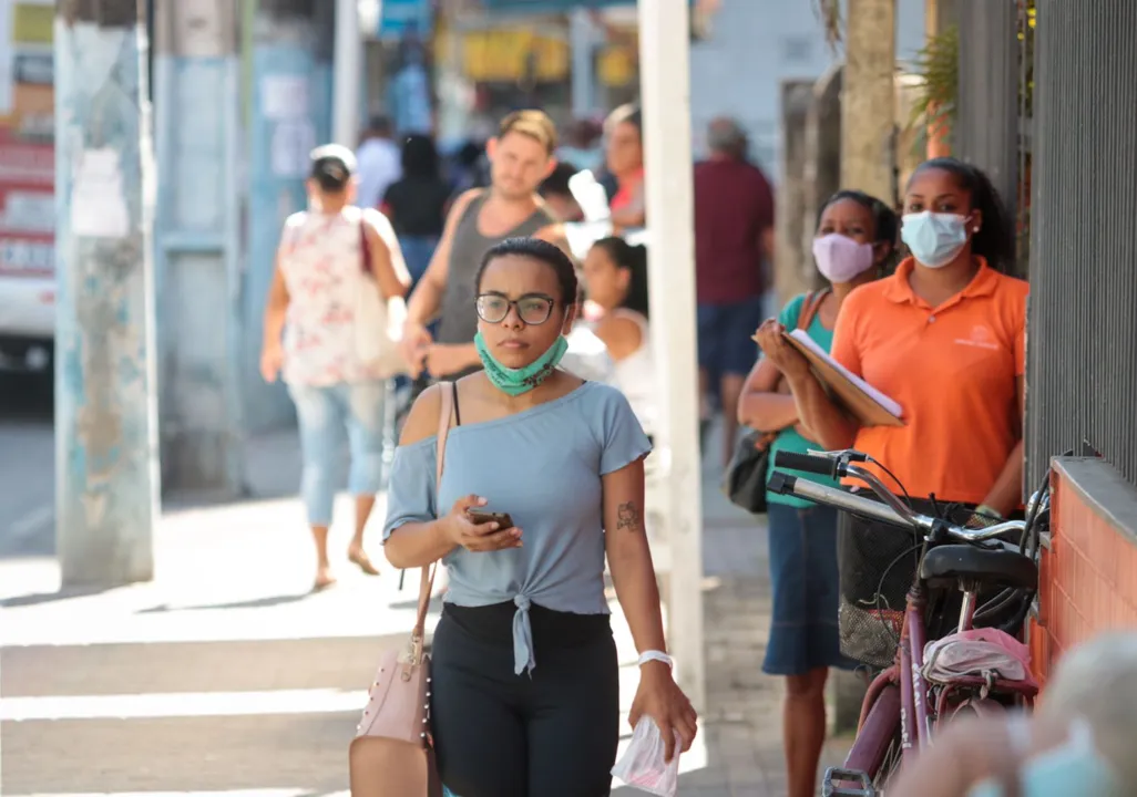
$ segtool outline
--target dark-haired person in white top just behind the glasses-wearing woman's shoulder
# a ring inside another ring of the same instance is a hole
[[[608,349],[613,384],[652,435],[659,419],[648,335],[647,250],[620,237],[600,238],[584,258],[583,277],[586,322]]]

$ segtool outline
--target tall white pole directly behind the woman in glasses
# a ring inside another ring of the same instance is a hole
[[[680,685],[706,705],[703,657],[703,496],[695,351],[695,211],[691,185],[687,0],[639,0],[648,280],[653,354],[663,410],[656,454],[670,480],[670,647]]]

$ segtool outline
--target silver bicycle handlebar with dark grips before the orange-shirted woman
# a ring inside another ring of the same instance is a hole
[[[846,512],[872,518],[894,526],[911,526],[920,531],[931,531],[938,525],[946,530],[949,537],[965,543],[979,543],[1007,532],[1021,534],[1026,528],[1026,521],[1007,520],[982,529],[969,529],[964,526],[913,512],[904,502],[893,495],[875,475],[864,468],[852,464],[853,461],[863,462],[866,459],[864,454],[855,451],[811,452],[808,454],[781,451],[774,455],[774,467],[792,468],[794,470],[832,478],[852,476],[868,484],[872,488],[872,492],[885,503],[871,501],[833,487],[827,487],[808,479],[799,479],[796,476],[778,470],[771,476],[769,487],[780,495],[796,495],[819,504],[836,506]]]

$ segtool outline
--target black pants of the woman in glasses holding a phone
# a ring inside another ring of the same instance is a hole
[[[458,797],[604,797],[620,739],[608,616],[533,605],[537,666],[514,674],[513,603],[447,604],[431,660],[442,782]]]

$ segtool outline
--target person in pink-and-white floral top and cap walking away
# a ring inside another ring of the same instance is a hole
[[[356,498],[355,536],[348,559],[364,572],[363,531],[380,488],[383,459],[383,376],[357,353],[356,295],[374,275],[384,299],[404,296],[410,275],[385,217],[352,204],[355,157],[345,146],[312,153],[310,210],[284,223],[265,309],[260,372],[283,372],[296,402],[304,454],[301,495],[316,543],[315,589],[334,582],[327,557],[339,446],[345,430],[351,453],[349,488]],[[390,242],[391,245],[388,245]]]

